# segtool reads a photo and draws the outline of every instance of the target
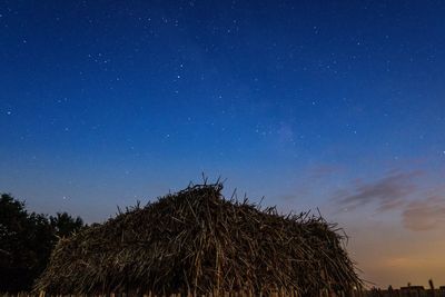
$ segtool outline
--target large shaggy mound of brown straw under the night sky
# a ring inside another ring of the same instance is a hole
[[[36,289],[315,296],[360,286],[335,225],[227,200],[221,189],[190,186],[61,239]]]

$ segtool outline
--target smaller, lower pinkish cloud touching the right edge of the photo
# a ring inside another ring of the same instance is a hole
[[[445,198],[433,196],[409,202],[402,214],[405,228],[414,231],[445,226]]]

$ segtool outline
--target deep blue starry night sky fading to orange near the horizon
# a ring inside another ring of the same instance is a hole
[[[443,1],[0,2],[0,191],[103,221],[226,178],[445,285]]]

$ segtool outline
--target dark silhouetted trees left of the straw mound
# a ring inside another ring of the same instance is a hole
[[[80,217],[29,212],[9,194],[0,198],[0,291],[27,291],[46,268],[59,238],[87,227]]]

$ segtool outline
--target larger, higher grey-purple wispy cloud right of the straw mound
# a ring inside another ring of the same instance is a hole
[[[392,172],[376,181],[357,181],[352,189],[337,191],[335,200],[342,209],[356,209],[368,204],[376,204],[378,211],[402,207],[416,191],[413,178],[417,175],[418,171]]]

